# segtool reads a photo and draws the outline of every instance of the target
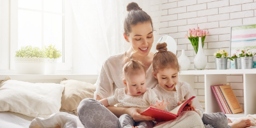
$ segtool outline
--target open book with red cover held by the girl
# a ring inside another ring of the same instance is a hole
[[[186,102],[183,102],[176,108],[174,108],[172,111],[163,111],[161,109],[156,109],[149,107],[148,109],[145,109],[145,111],[141,112],[141,115],[151,116],[156,119],[157,122],[163,122],[168,120],[173,120],[177,118],[180,115],[180,112],[182,109],[188,104],[188,102],[192,99],[194,99],[195,96],[191,97],[190,99],[186,100]],[[171,103],[169,103],[171,104]]]

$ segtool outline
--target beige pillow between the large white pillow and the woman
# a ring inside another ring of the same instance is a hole
[[[64,84],[65,89],[61,98],[61,111],[74,112],[77,115],[77,107],[81,100],[93,98],[93,93],[96,91],[96,86],[83,81],[72,79],[63,79],[60,82]]]

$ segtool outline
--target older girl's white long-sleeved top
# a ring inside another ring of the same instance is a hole
[[[193,90],[193,88],[190,86],[190,84],[186,82],[179,81],[179,83],[175,86],[176,91],[167,91],[164,90],[159,84],[156,85],[154,92],[158,96],[159,100],[164,100],[164,102],[170,102],[164,111],[172,111],[172,109],[176,108],[179,101],[182,101],[184,99],[189,99],[193,96],[195,96],[195,99],[193,99],[193,106],[195,106],[196,111],[200,114],[201,118],[203,116],[204,110],[202,106],[199,103],[198,98],[196,97],[196,94]]]

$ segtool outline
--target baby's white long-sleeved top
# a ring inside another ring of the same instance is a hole
[[[126,95],[125,90],[127,88],[116,88],[115,95],[108,97],[109,106],[117,104],[118,107],[134,107],[144,111],[150,104],[156,105],[156,100],[158,100],[156,93],[151,88],[147,88],[147,91],[138,97]]]

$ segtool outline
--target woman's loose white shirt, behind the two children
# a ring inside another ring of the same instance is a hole
[[[111,97],[114,95],[116,88],[125,88],[122,78],[124,57],[125,52],[111,56],[104,61],[96,82],[97,89],[93,99],[96,99],[97,95],[99,95],[101,99]],[[157,84],[157,79],[153,76],[152,71],[153,67],[151,64],[146,72],[147,88],[154,88]]]

